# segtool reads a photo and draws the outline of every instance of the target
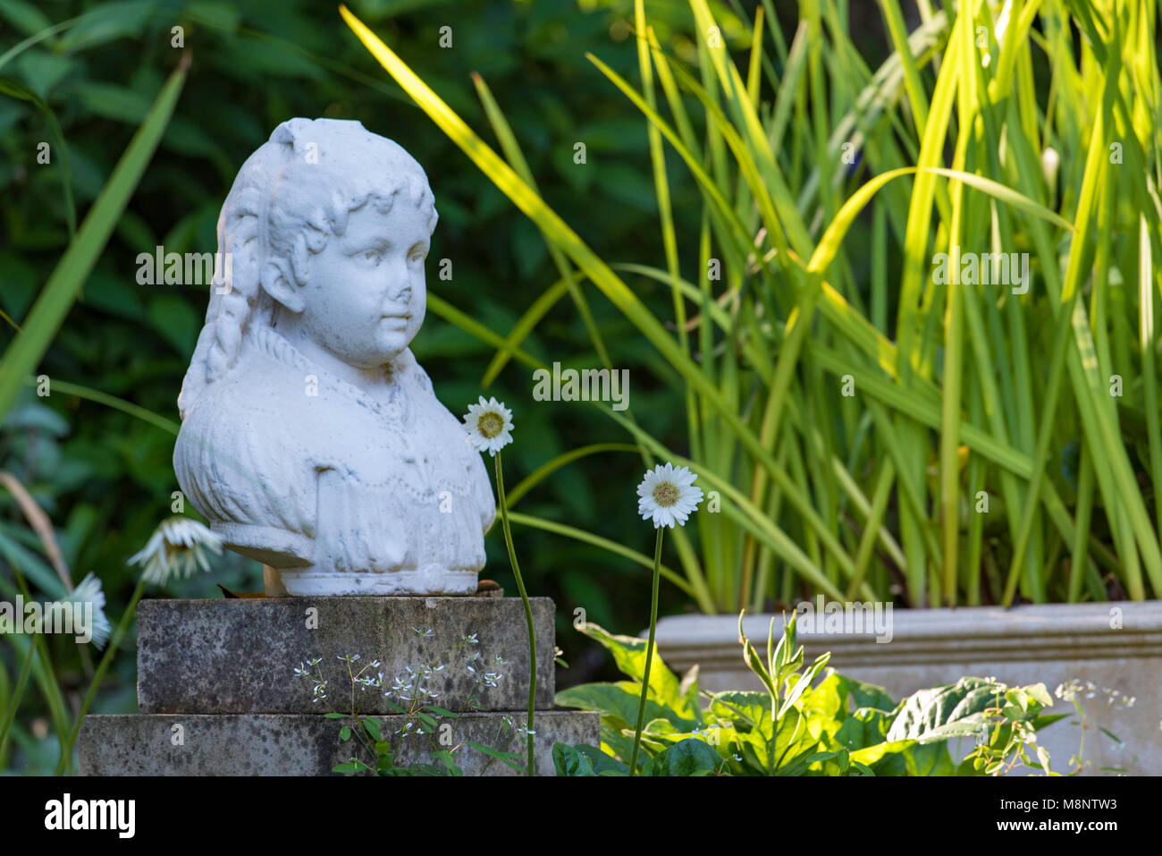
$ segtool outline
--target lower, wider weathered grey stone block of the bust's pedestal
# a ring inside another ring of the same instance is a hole
[[[390,736],[401,728],[402,715],[381,716],[383,736],[397,746],[399,765],[428,762],[428,739]],[[450,746],[466,776],[517,776],[517,770],[467,746],[473,741],[503,751],[524,752],[524,739],[508,726],[519,727],[523,714],[468,713]],[[445,720],[446,721],[446,720]],[[444,721],[442,721],[443,723]],[[346,763],[357,749],[339,739],[350,720],[310,714],[173,714],[86,716],[79,754],[81,776],[328,776]],[[538,776],[552,776],[553,743],[596,746],[601,714],[579,711],[538,712],[535,754]],[[438,732],[437,732],[438,734]],[[437,740],[438,742],[438,740]],[[360,754],[371,762],[370,755]]]

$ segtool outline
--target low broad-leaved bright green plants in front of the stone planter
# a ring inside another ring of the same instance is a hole
[[[1049,775],[1037,729],[1060,716],[1043,684],[1009,687],[995,678],[961,678],[920,690],[898,704],[871,684],[827,668],[830,654],[804,668],[795,619],[777,644],[774,621],[761,657],[741,635],[744,659],[766,692],[698,690],[697,666],[681,680],[655,656],[643,732],[641,776],[976,776],[1018,764]],[[557,704],[601,712],[601,748],[553,747],[559,776],[624,776],[645,666],[645,641],[587,623],[630,680],[584,684]],[[816,677],[823,679],[815,684]],[[815,685],[812,685],[815,684]],[[971,749],[961,755],[963,741]]]

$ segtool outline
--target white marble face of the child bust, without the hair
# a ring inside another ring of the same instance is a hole
[[[300,324],[315,344],[359,369],[383,365],[408,347],[428,304],[426,213],[406,195],[386,214],[365,204],[310,258]]]

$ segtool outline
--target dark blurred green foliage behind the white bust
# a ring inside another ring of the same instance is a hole
[[[658,263],[661,240],[645,123],[584,60],[584,52],[593,51],[623,76],[636,74],[632,0],[354,0],[350,7],[483,130],[487,122],[471,80],[479,72],[505,109],[546,200],[568,222],[581,224],[584,240],[603,257]],[[736,44],[745,38],[739,15],[753,16],[753,7],[715,8],[726,40]],[[684,3],[651,3],[651,14],[655,27],[669,27],[665,35],[679,52],[693,51]],[[137,255],[159,244],[166,252],[213,252],[218,211],[237,169],[292,116],[357,119],[415,155],[440,214],[429,290],[489,328],[510,329],[558,279],[532,223],[382,74],[335,3],[0,0],[0,56],[81,15],[88,17],[0,66],[0,78],[36,97],[0,97],[0,309],[7,316],[0,320],[0,351],[69,243],[62,183],[71,184],[79,220],[179,62],[182,50],[172,47],[173,27],[184,28],[185,50],[193,56],[160,148],[40,366],[52,383],[77,384],[178,420],[177,397],[208,293],[203,286],[139,285]],[[451,49],[439,47],[445,26],[452,28]],[[586,165],[574,163],[578,141],[587,145]],[[42,142],[51,147],[46,165],[36,160]],[[700,206],[691,183],[675,184],[674,202],[680,233],[696,234]],[[686,247],[687,252],[696,262],[695,248]],[[452,259],[451,281],[436,276],[442,258]],[[666,287],[645,278],[634,285],[665,312],[670,301]],[[591,306],[614,364],[631,370],[634,415],[652,434],[682,448],[684,426],[674,419],[682,406],[676,377],[673,384],[644,380],[674,376],[600,295]],[[591,345],[568,301],[548,314],[524,347],[547,363],[591,365]],[[414,350],[453,413],[465,411],[482,391],[514,409],[516,443],[505,452],[510,485],[571,448],[626,440],[608,420],[575,406],[533,402],[530,372],[515,362],[482,390],[493,349],[432,313]],[[648,371],[636,371],[641,366]],[[0,469],[15,475],[48,513],[73,582],[89,571],[101,578],[114,622],[137,579],[125,559],[171,513],[171,493],[178,490],[173,441],[163,428],[59,388],[37,398],[28,387],[0,428]],[[589,457],[558,471],[519,509],[648,552],[653,533],[636,514],[641,469],[636,455]],[[185,512],[196,516],[188,505]],[[615,677],[600,649],[569,630],[573,611],[581,607],[591,621],[636,633],[648,615],[648,569],[541,530],[517,527],[515,537],[530,592],[547,594],[558,605],[559,641],[571,664],[559,685]],[[43,559],[37,561],[40,542],[7,492],[0,492],[0,538],[6,557],[22,559],[34,594],[63,593]],[[498,527],[487,542],[483,576],[515,593]],[[171,583],[166,592],[220,597],[218,583],[256,591],[260,568],[225,554],[213,575]],[[662,612],[687,607],[687,598],[664,586]],[[78,657],[71,641],[49,637],[49,643],[65,698],[73,699],[87,685],[92,664]],[[15,654],[6,647],[0,659],[0,696],[15,682]],[[95,712],[135,708],[135,670],[130,637]],[[56,763],[48,713],[37,709],[42,702],[34,696],[26,698],[12,757],[0,758],[0,769],[51,770]]]

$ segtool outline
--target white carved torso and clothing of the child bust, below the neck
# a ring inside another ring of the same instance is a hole
[[[228,547],[274,568],[480,570],[495,516],[480,455],[410,350],[376,392],[253,328],[186,415],[178,482]]]

